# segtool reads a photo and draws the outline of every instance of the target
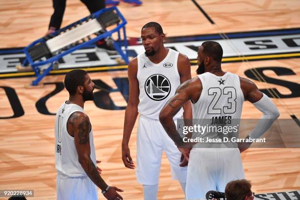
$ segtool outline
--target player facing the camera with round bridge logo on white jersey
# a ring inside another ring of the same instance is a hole
[[[182,154],[159,123],[158,115],[180,83],[191,78],[191,67],[185,55],[164,47],[165,34],[158,23],[144,25],[141,33],[146,51],[132,59],[128,66],[129,100],[125,111],[122,159],[125,167],[135,168],[128,143],[140,113],[136,176],[143,184],[144,200],[156,200],[162,151],[171,164],[173,179],[178,180],[185,190],[187,161],[180,163]],[[185,119],[192,118],[190,102],[185,103],[174,119],[182,115]]]

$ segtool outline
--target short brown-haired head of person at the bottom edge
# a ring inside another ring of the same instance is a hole
[[[226,200],[253,200],[254,193],[251,191],[251,183],[246,179],[232,180],[225,188]]]

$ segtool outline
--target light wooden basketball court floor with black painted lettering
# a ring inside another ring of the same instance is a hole
[[[140,7],[121,2],[118,8],[128,22],[131,56],[143,52],[141,27],[155,21],[167,35],[165,46],[190,58],[194,77],[198,47],[205,40],[218,41],[224,49],[224,70],[250,78],[275,102],[279,118],[294,120],[299,127],[299,0],[143,0]],[[31,189],[34,199],[55,199],[55,112],[68,98],[65,73],[84,68],[96,84],[110,91],[95,89],[94,102],[85,105],[102,176],[125,191],[125,200],[141,200],[142,186],[121,159],[127,66],[91,47],[60,60],[60,70],[46,76],[43,87],[26,88],[33,73],[16,71],[25,58],[22,48],[47,32],[51,14],[50,0],[0,1],[0,189]],[[87,15],[79,0],[68,0],[62,27]],[[260,116],[253,105],[244,103],[242,118]],[[136,162],[136,125],[129,147]],[[300,149],[249,149],[242,160],[256,194],[300,190]],[[165,155],[158,199],[184,199],[179,183],[171,180]]]

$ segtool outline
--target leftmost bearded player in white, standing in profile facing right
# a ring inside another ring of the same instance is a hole
[[[93,130],[83,110],[84,102],[94,100],[94,86],[83,70],[65,77],[70,97],[58,109],[55,119],[55,168],[57,200],[98,200],[97,187],[108,200],[123,200],[100,176],[96,166]],[[97,161],[99,163],[100,161]]]

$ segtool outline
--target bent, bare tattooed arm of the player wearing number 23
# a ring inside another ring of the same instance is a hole
[[[191,100],[194,103],[197,102],[201,91],[202,84],[198,77],[185,81],[177,88],[175,96],[165,104],[159,113],[160,123],[163,125],[164,129],[170,138],[175,142],[177,147],[182,146],[183,141],[176,130],[173,117],[186,101]]]

